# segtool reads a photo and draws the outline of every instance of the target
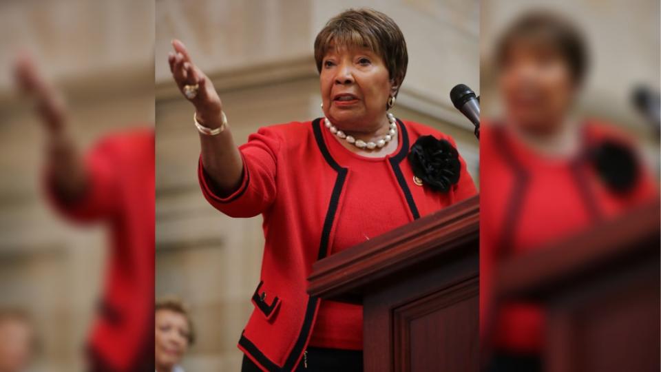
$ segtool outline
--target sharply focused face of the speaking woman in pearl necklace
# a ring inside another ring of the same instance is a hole
[[[381,123],[392,94],[384,60],[364,48],[330,48],[319,76],[324,114],[345,131],[369,132]]]

